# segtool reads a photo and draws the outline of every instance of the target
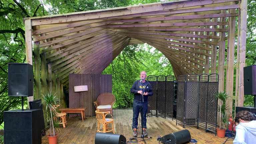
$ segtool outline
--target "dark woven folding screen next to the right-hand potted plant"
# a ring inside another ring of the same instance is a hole
[[[204,128],[216,134],[218,74],[178,76],[176,125]]]

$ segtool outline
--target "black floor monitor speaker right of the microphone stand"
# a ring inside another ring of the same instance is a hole
[[[188,130],[181,130],[161,137],[161,142],[164,144],[183,144],[191,140],[191,135]]]

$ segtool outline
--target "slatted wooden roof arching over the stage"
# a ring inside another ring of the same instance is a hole
[[[162,52],[175,76],[200,74],[209,60],[217,61],[212,51],[220,33],[229,32],[230,23],[221,18],[237,17],[229,11],[237,8],[237,0],[178,0],[24,21],[31,20],[34,46],[66,83],[69,73],[100,74],[126,46],[141,43]]]

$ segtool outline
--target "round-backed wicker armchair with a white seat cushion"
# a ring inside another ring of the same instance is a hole
[[[99,112],[110,112],[113,118],[113,103],[116,101],[115,96],[112,93],[102,93],[98,96],[94,103],[95,107]]]

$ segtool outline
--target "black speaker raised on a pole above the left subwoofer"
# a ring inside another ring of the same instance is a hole
[[[33,96],[33,66],[8,64],[8,96]]]

